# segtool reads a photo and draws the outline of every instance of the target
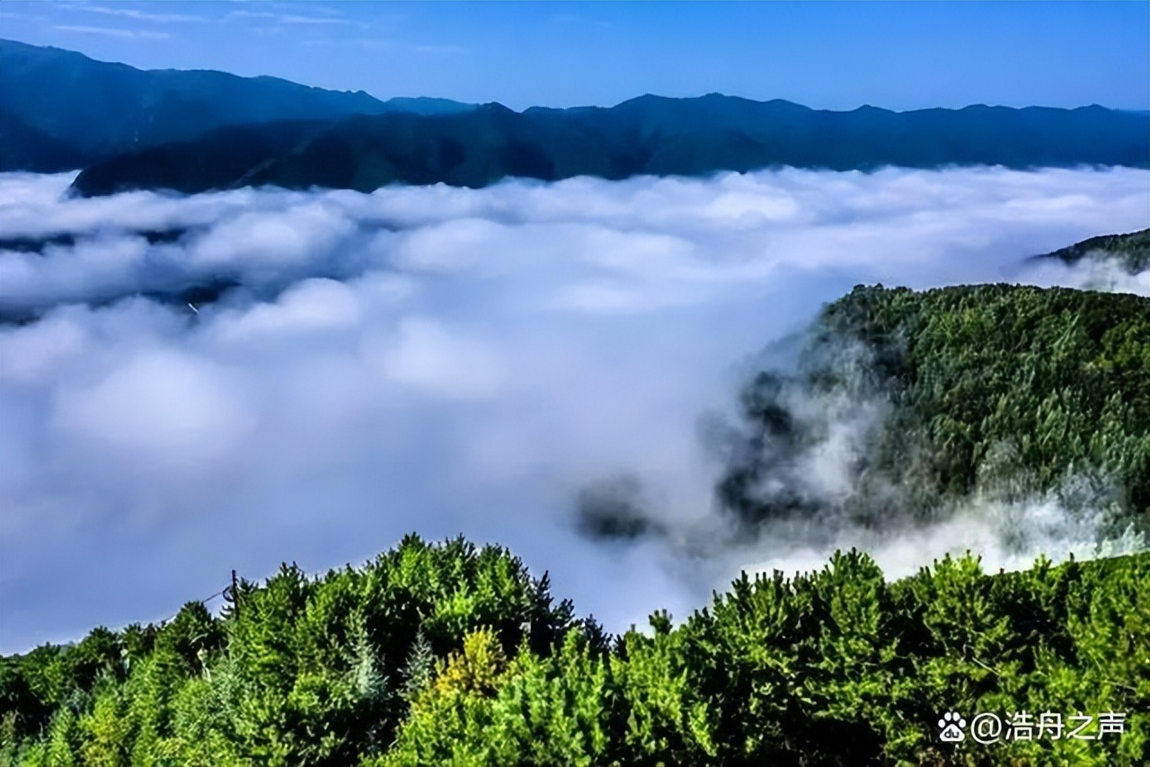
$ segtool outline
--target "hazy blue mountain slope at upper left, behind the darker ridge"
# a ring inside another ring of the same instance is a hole
[[[233,123],[467,109],[446,99],[379,101],[275,77],[140,70],[71,51],[0,40],[0,170],[77,168]],[[18,120],[18,123],[14,123]]]

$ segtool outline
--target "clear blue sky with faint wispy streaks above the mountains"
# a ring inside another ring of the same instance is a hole
[[[0,37],[379,98],[1150,108],[1150,2],[0,1]]]

